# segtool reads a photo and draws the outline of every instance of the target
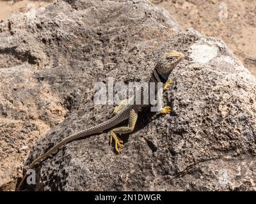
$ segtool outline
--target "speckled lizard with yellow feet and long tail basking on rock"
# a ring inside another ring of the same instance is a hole
[[[175,66],[177,66],[177,64],[179,64],[179,62],[182,61],[182,59],[184,59],[184,54],[182,54],[181,52],[170,50],[170,52],[164,53],[156,63],[154,70],[145,79],[145,82],[147,84],[151,82],[155,84],[157,84],[158,82],[161,82],[163,83],[164,90],[168,89],[168,87],[172,83],[172,80],[168,79],[169,75],[172,72],[173,68],[175,68]],[[133,96],[131,99],[135,100],[135,97]],[[141,92],[141,101],[143,101],[142,92]],[[113,111],[114,116],[111,117],[111,119],[106,120],[105,122],[102,122],[96,126],[92,126],[91,128],[87,128],[77,133],[74,133],[74,135],[67,136],[67,138],[64,138],[63,140],[61,140],[61,142],[57,143],[56,145],[54,145],[54,147],[52,147],[47,152],[42,154],[42,156],[39,156],[38,158],[36,158],[29,165],[28,169],[32,169],[35,166],[35,164],[46,159],[49,155],[56,152],[58,149],[60,149],[67,143],[72,142],[73,140],[76,140],[77,138],[94,135],[96,133],[102,133],[103,131],[106,131],[108,129],[115,127],[116,125],[120,124],[124,120],[128,120],[128,126],[113,128],[110,130],[109,142],[112,143],[112,140],[115,141],[115,150],[116,150],[116,153],[119,154],[120,149],[124,147],[124,142],[120,140],[117,134],[121,135],[125,133],[131,133],[134,130],[136,121],[138,119],[138,112],[141,112],[143,108],[148,106],[151,106],[151,105],[149,104],[144,105],[143,103],[130,104],[130,103],[127,103],[127,100],[122,101],[118,106],[115,107]],[[165,106],[160,112],[169,113],[170,106]],[[19,186],[17,187],[17,191],[20,190],[20,187],[22,186],[24,180],[26,179],[26,176],[27,174],[25,173],[22,180],[19,183]]]

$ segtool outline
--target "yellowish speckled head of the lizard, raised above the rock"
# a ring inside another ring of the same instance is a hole
[[[184,54],[181,52],[177,52],[175,50],[171,50],[170,52],[166,52],[163,57],[156,64],[156,71],[161,77],[167,80],[172,69],[182,61],[184,58]]]

